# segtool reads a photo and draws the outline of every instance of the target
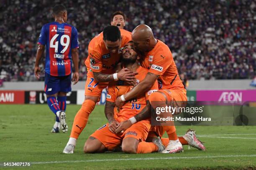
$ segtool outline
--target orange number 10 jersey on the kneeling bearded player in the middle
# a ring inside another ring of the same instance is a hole
[[[140,66],[136,71],[138,74],[135,75],[135,78],[137,83],[139,83],[146,77],[148,70]],[[121,80],[110,82],[107,88],[107,101],[115,102],[117,97],[126,94],[132,89],[132,85],[128,85]],[[137,115],[146,106],[146,100],[148,100],[148,96],[157,90],[158,84],[157,82],[154,82],[152,87],[146,92],[145,95],[126,101],[120,112],[117,113],[117,120],[121,122]]]

